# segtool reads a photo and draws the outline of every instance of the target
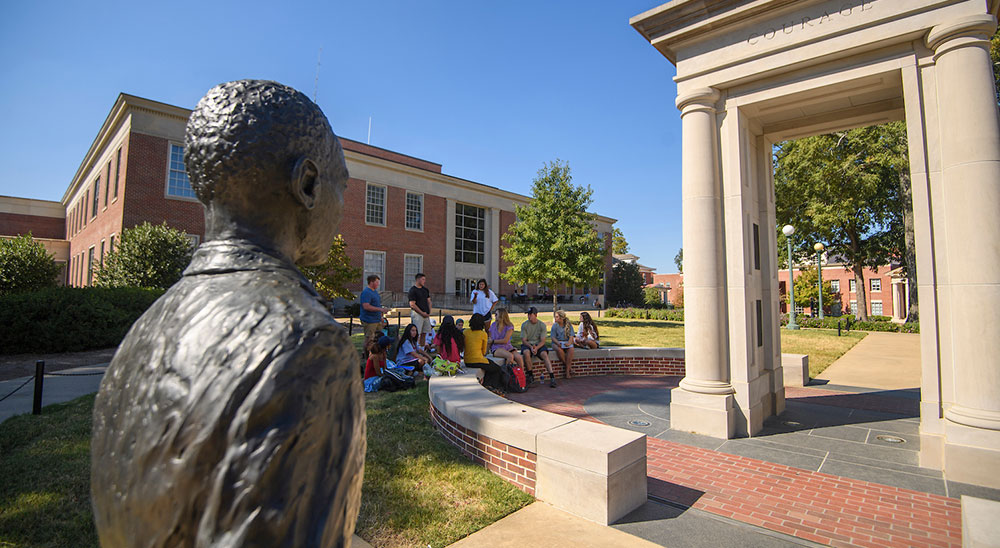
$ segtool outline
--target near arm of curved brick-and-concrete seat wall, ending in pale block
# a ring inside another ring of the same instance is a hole
[[[434,425],[522,491],[608,525],[646,501],[646,436],[501,398],[476,375],[432,377]]]

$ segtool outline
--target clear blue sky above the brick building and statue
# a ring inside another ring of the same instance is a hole
[[[629,24],[657,0],[8,2],[0,18],[0,194],[59,200],[119,92],[193,108],[277,80],[338,135],[528,194],[569,162],[630,251],[681,246],[674,67]]]

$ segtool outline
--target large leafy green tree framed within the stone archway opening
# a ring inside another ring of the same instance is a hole
[[[813,244],[823,242],[828,254],[843,259],[860,288],[862,320],[868,318],[863,269],[905,254],[905,131],[893,122],[785,141],[775,150],[778,226],[795,227],[796,257],[811,257]],[[787,264],[785,242],[779,232],[779,256]]]

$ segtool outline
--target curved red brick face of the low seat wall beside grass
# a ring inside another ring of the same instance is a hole
[[[525,493],[535,496],[535,453],[484,436],[444,416],[430,404],[431,422],[449,443]]]

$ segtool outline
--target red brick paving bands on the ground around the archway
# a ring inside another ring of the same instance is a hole
[[[511,394],[518,402],[595,420],[592,396],[628,388],[664,389],[680,377],[584,377],[558,388]],[[788,388],[786,398],[818,405],[916,413],[916,400]],[[957,499],[812,472],[647,438],[650,496],[831,546],[961,546]]]

